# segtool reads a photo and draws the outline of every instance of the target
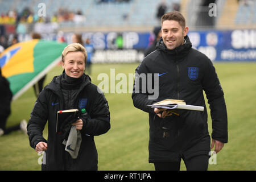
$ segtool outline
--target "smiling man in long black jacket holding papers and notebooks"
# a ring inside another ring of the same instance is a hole
[[[192,48],[187,33],[182,14],[172,11],[163,15],[162,38],[156,51],[146,56],[135,71],[138,75],[158,73],[159,76],[157,83],[154,80],[151,83],[159,84],[158,99],[150,100],[150,93],[142,88],[136,88],[140,92],[132,94],[134,106],[149,114],[149,162],[154,163],[156,170],[179,170],[181,159],[187,170],[207,170],[210,148],[217,153],[228,142],[228,119],[220,81],[212,61]],[[212,117],[211,145],[203,91]],[[188,105],[205,109],[179,110],[179,115],[174,115],[147,106],[166,98],[184,100]]]

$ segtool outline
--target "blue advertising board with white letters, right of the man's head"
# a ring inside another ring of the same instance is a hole
[[[212,61],[256,61],[256,30],[191,31],[193,48]]]

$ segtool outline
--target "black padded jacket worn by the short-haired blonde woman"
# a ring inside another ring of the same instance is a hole
[[[47,142],[46,165],[43,165],[42,169],[97,170],[98,159],[94,136],[104,134],[110,129],[108,101],[103,93],[98,92],[97,86],[90,82],[87,75],[82,76],[79,87],[73,88],[73,91],[69,89],[70,92],[68,92],[69,86],[61,81],[64,75],[65,73],[54,77],[35,102],[27,126],[30,146],[35,148],[38,142]],[[65,96],[67,93],[69,97]],[[77,159],[72,159],[65,151],[61,134],[56,133],[56,113],[64,109],[82,108],[86,109],[88,118],[86,121],[83,120],[79,155]],[[46,140],[42,131],[47,121],[48,139]]]

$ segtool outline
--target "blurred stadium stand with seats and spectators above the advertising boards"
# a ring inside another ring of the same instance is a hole
[[[103,2],[104,1],[104,2]],[[108,2],[106,2],[108,1]],[[18,33],[31,30],[28,24],[56,22],[58,30],[74,31],[152,31],[159,26],[156,17],[163,0],[0,0],[0,25],[15,24]],[[205,28],[254,28],[255,0],[165,0],[166,11],[180,6],[190,30]],[[209,18],[209,2],[216,2],[217,16]],[[46,17],[39,17],[39,3],[46,5]],[[9,17],[5,17],[9,16]],[[14,18],[11,18],[13,16]]]

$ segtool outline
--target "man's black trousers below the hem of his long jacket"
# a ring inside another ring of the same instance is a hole
[[[187,171],[207,171],[209,155],[197,155],[189,159],[182,158]],[[156,171],[179,171],[181,158],[178,162],[154,163]]]

